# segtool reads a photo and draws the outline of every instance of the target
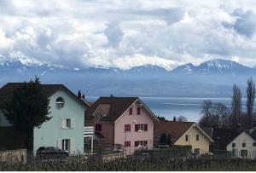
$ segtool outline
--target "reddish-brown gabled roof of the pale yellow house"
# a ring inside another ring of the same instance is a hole
[[[210,141],[212,138],[207,136],[206,132],[201,130],[201,128],[195,122],[180,122],[180,121],[160,121],[154,122],[154,136],[158,136],[162,133],[170,135],[172,138],[172,143],[174,144],[178,139],[180,139],[188,130],[192,127],[196,127],[200,130],[204,136],[206,136]]]

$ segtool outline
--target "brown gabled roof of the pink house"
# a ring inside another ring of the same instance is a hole
[[[138,97],[100,97],[96,100],[90,107],[90,109],[86,110],[85,120],[91,120],[94,118],[93,114],[96,114],[96,111],[101,112],[102,121],[110,121],[115,122],[119,117],[121,117],[124,112],[132,106],[136,101],[140,101],[143,106],[150,112],[152,116],[155,115],[150,109],[141,101]]]

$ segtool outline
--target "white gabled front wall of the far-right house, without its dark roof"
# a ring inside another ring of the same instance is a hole
[[[238,158],[256,159],[256,141],[247,132],[242,131],[227,145],[227,151]]]

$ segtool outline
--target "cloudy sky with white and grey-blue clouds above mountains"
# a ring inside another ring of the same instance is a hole
[[[256,65],[255,0],[0,0],[0,61]]]

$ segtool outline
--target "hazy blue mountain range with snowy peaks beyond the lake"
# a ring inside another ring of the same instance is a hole
[[[43,84],[65,84],[85,95],[137,95],[226,97],[238,84],[245,94],[247,78],[256,79],[256,68],[235,61],[214,59],[199,66],[192,63],[168,71],[160,66],[68,69],[49,64],[26,65],[19,60],[0,62],[0,86],[28,81],[37,75]]]

